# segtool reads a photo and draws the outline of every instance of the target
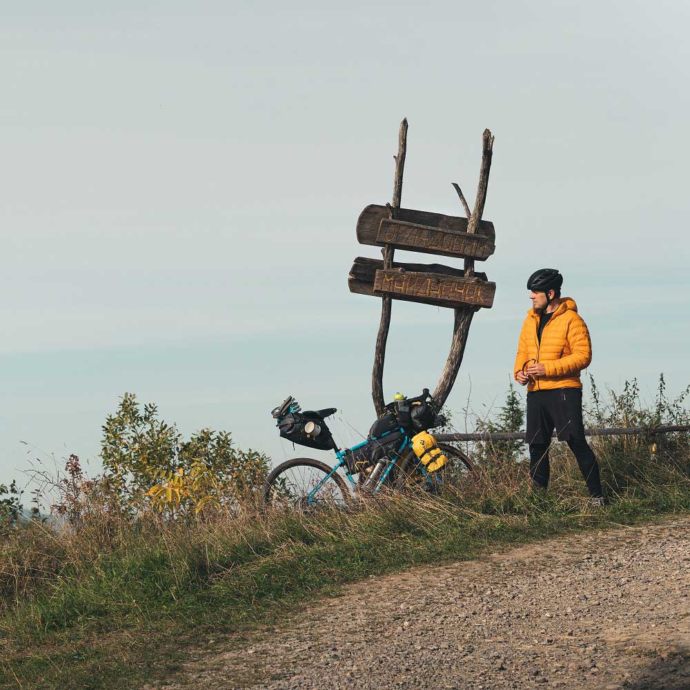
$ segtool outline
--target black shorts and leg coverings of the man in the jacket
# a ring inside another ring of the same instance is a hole
[[[540,489],[546,489],[549,485],[549,444],[554,429],[558,433],[558,440],[567,442],[573,451],[589,493],[601,496],[599,466],[584,436],[580,388],[527,393],[529,474]]]

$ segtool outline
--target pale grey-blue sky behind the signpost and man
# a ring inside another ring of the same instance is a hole
[[[96,471],[125,391],[277,461],[288,393],[366,433],[380,300],[347,275],[403,117],[408,208],[461,215],[495,135],[497,295],[451,408],[502,400],[543,266],[600,386],[690,381],[687,3],[4,4],[0,482],[38,449]],[[393,304],[386,397],[435,386],[452,322]]]

